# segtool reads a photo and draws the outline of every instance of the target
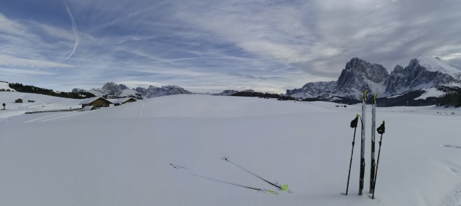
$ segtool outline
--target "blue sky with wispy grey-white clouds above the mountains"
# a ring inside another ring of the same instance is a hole
[[[0,0],[0,80],[285,93],[358,57],[461,68],[461,1]]]

